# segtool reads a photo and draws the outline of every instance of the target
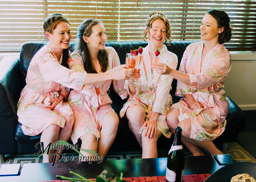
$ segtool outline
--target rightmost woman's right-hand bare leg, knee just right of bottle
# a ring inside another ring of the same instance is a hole
[[[190,138],[191,133],[191,120],[183,120],[181,121],[178,126],[183,128],[182,135],[191,145],[197,145],[205,150],[207,150],[212,156],[214,155],[221,155],[222,152],[217,149],[217,147],[213,144],[212,141],[199,141]],[[189,149],[189,148],[188,148]]]

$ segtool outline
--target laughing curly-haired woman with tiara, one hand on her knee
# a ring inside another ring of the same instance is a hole
[[[150,13],[144,35],[144,41],[147,38],[148,45],[142,51],[141,78],[138,80],[141,85],[125,85],[130,97],[120,111],[120,116],[127,118],[132,133],[142,147],[142,158],[155,158],[158,138],[161,135],[167,138],[171,136],[166,114],[172,104],[169,92],[173,78],[155,73],[152,79],[151,64],[155,55],[159,62],[176,69],[178,58],[164,45],[164,42],[171,41],[171,30],[170,23],[163,13]]]

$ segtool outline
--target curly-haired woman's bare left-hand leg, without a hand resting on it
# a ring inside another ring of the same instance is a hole
[[[135,135],[137,141],[139,142],[142,148],[142,140],[141,134],[139,131],[143,126],[143,123],[146,118],[146,113],[141,105],[134,105],[132,107],[128,107],[126,111],[126,117],[129,121],[129,128],[131,129],[132,133]]]

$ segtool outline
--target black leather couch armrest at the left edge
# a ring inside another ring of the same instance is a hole
[[[0,62],[0,154],[16,154],[17,102],[22,90],[19,57]]]

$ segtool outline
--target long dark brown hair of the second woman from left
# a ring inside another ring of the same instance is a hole
[[[76,50],[82,56],[83,66],[87,73],[98,73],[96,68],[93,67],[92,59],[89,54],[86,42],[83,40],[83,37],[90,37],[92,34],[92,27],[98,23],[103,24],[99,20],[93,18],[86,18],[78,27],[77,32],[77,41],[76,41]],[[91,25],[90,25],[91,24]],[[85,32],[86,30],[86,32]],[[99,65],[101,65],[101,71],[106,72],[108,69],[108,53],[106,49],[101,49],[98,52]]]

